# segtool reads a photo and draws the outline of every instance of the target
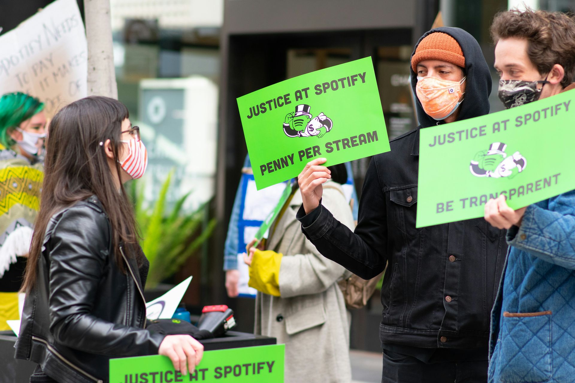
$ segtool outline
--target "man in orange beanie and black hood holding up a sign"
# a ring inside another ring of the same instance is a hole
[[[437,28],[411,59],[417,129],[371,159],[355,231],[321,205],[324,158],[298,177],[302,230],[321,254],[362,278],[387,265],[379,325],[382,382],[486,382],[489,312],[504,264],[505,230],[484,219],[416,229],[419,129],[489,113],[491,75],[459,28]],[[449,164],[446,164],[447,166]]]

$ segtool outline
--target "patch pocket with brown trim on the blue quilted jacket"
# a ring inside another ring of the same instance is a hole
[[[551,378],[551,311],[503,313],[500,381],[538,383]]]

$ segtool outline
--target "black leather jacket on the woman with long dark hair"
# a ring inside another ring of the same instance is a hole
[[[120,247],[126,268],[121,272],[110,233],[94,196],[48,224],[15,356],[39,363],[59,382],[107,382],[110,358],[158,354],[164,339],[144,329],[137,262]]]

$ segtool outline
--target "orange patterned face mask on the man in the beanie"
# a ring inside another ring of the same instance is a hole
[[[463,95],[461,84],[466,78],[464,77],[461,81],[450,81],[432,76],[417,76],[415,92],[425,113],[438,121],[453,114],[463,101],[459,99]]]

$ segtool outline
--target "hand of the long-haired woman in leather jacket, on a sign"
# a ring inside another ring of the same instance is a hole
[[[187,367],[190,373],[193,373],[202,361],[204,345],[190,335],[166,335],[160,344],[158,354],[166,355],[174,363],[174,369],[186,375]]]

